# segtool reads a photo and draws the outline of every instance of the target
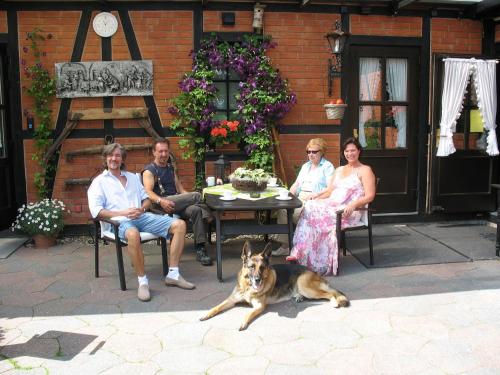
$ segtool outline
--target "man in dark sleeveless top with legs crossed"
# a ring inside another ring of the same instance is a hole
[[[190,220],[193,225],[196,260],[204,266],[212,265],[212,259],[205,250],[205,221],[212,219],[210,209],[202,203],[200,193],[189,193],[182,186],[170,157],[168,139],[155,140],[153,156],[153,162],[146,165],[142,173],[144,189],[153,202],[153,208]]]

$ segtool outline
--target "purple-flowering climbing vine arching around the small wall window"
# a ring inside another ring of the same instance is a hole
[[[183,139],[184,158],[204,160],[205,151],[224,138],[223,121],[215,118],[217,72],[231,70],[239,75],[239,93],[235,96],[239,130],[235,142],[245,144],[248,164],[271,170],[274,161],[272,129],[288,113],[297,99],[288,83],[280,77],[266,51],[273,48],[269,37],[245,36],[242,42],[230,44],[215,36],[203,39],[192,52],[193,68],[179,83],[181,93],[172,101],[170,114],[175,118],[171,128]],[[229,132],[228,132],[229,134]],[[198,171],[197,173],[200,173]],[[197,175],[202,182],[203,176]]]

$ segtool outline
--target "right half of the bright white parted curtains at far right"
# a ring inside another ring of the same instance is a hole
[[[496,134],[497,87],[496,61],[475,60],[474,84],[476,86],[477,106],[483,117],[484,129],[488,131],[486,152],[490,156],[498,155]]]

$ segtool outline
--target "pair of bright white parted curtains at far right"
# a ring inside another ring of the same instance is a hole
[[[453,133],[463,108],[463,100],[469,77],[474,73],[474,83],[478,96],[478,107],[483,117],[483,125],[488,130],[486,152],[498,155],[496,137],[496,61],[476,59],[444,60],[443,97],[441,102],[440,137],[437,156],[448,156],[456,151]]]

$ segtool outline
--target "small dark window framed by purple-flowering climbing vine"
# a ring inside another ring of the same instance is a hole
[[[236,111],[236,95],[239,92],[240,77],[230,69],[216,72],[214,78],[217,87],[216,112],[214,120],[234,120]]]

